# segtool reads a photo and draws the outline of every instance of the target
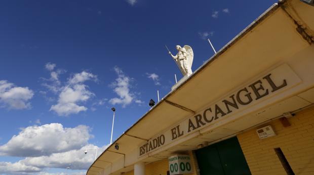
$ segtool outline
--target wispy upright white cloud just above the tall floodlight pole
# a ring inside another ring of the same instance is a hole
[[[113,91],[119,96],[119,98],[112,98],[109,103],[112,105],[120,104],[122,107],[129,105],[135,95],[130,92],[130,78],[124,74],[119,67],[114,67],[114,71],[118,75],[115,81],[111,84],[114,88]]]

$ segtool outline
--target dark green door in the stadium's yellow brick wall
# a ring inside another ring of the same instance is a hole
[[[201,175],[251,174],[237,137],[195,151]]]

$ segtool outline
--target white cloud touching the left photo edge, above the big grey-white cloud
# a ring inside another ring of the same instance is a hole
[[[34,93],[28,87],[18,87],[7,80],[0,80],[0,104],[9,109],[30,108],[28,102]]]

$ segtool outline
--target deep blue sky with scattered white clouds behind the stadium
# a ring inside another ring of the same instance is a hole
[[[94,150],[81,153],[110,142],[110,108],[115,140],[181,77],[165,45],[191,46],[194,71],[207,38],[218,51],[273,3],[2,1],[0,174],[84,174]]]

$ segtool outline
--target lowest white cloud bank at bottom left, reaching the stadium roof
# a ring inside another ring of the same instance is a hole
[[[31,172],[38,172],[40,175],[62,175],[64,172],[49,173],[45,172],[47,168],[61,168],[71,170],[88,169],[91,163],[95,160],[96,149],[98,157],[109,145],[97,147],[89,144],[82,146],[79,149],[70,150],[62,153],[53,153],[50,156],[26,157],[18,162],[0,162],[0,174],[29,174]],[[90,149],[93,148],[93,149]],[[85,154],[85,150],[88,151]],[[71,172],[66,174],[85,174],[86,172]],[[33,174],[33,173],[32,173]]]

